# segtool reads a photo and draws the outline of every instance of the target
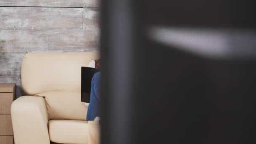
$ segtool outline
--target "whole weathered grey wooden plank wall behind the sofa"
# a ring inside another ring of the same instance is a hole
[[[0,83],[21,85],[28,52],[96,51],[99,0],[0,0]]]

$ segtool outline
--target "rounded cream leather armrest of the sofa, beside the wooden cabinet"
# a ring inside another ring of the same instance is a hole
[[[16,144],[50,144],[48,113],[40,96],[21,96],[11,105],[13,135]]]

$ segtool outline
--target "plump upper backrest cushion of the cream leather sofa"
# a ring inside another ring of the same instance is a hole
[[[80,91],[81,67],[99,59],[99,52],[27,53],[21,83],[29,95],[49,91]]]

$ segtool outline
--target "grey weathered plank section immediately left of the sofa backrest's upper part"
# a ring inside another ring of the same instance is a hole
[[[0,53],[0,76],[20,76],[21,61],[26,53]]]

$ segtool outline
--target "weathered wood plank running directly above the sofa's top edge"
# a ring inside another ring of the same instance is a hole
[[[95,51],[98,30],[0,30],[0,53]]]

